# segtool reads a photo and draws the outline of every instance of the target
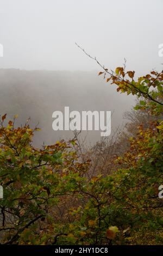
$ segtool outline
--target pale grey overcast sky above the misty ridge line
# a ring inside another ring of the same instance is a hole
[[[128,69],[161,69],[162,11],[162,0],[0,0],[0,68],[98,70],[78,42],[108,68],[126,57]]]

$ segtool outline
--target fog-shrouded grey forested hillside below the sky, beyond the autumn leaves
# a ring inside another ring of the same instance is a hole
[[[135,104],[135,97],[117,95],[114,88],[98,77],[97,71],[43,71],[43,70],[0,70],[0,109],[1,115],[8,118],[18,114],[17,124],[39,123],[40,134],[35,135],[34,143],[54,143],[59,138],[72,138],[72,131],[53,131],[52,113],[70,107],[70,111],[111,111],[112,134],[126,123],[123,117]],[[115,104],[115,101],[117,102]],[[47,136],[48,134],[48,136]],[[83,131],[80,137],[92,144],[100,139],[99,131]]]

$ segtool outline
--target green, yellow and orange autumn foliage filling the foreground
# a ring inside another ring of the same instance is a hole
[[[135,107],[154,119],[135,127],[129,147],[114,155],[114,172],[92,172],[93,158],[77,139],[36,149],[37,128],[0,129],[1,244],[123,245],[163,243],[163,72],[134,79],[125,66],[99,72],[117,92],[139,97]],[[127,77],[128,76],[128,77]],[[127,77],[127,78],[126,78]],[[102,154],[101,154],[102,157]],[[99,159],[100,161],[100,159]]]

